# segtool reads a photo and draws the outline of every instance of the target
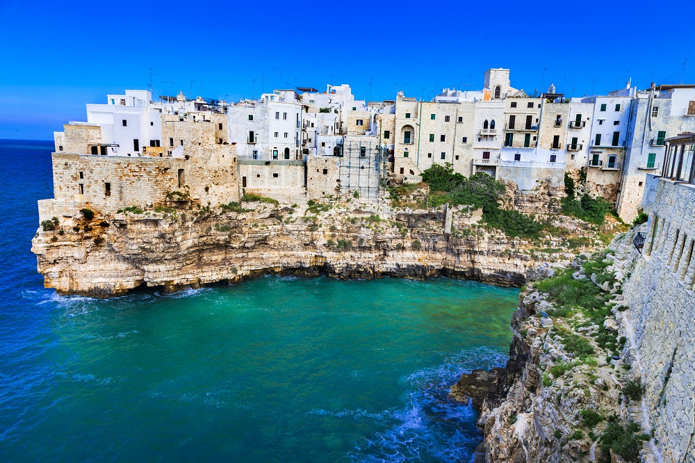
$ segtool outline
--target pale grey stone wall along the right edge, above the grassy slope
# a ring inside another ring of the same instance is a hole
[[[649,175],[647,191],[646,242],[624,285],[643,406],[664,461],[695,462],[695,187]]]

